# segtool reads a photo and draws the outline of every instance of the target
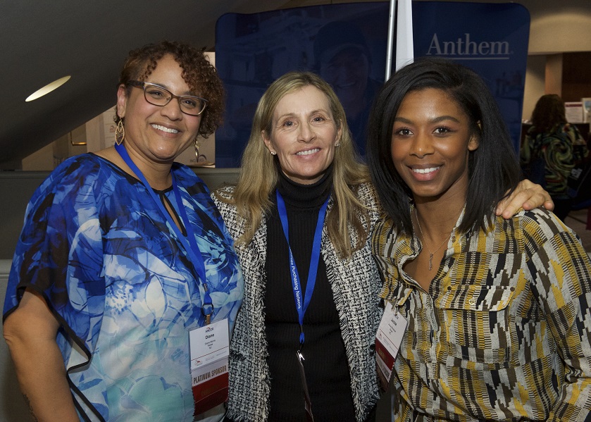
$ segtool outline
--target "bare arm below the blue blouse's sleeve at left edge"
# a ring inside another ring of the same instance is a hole
[[[80,422],[56,343],[58,328],[43,297],[27,289],[4,322],[4,339],[33,420]]]

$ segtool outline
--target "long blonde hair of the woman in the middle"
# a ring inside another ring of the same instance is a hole
[[[279,178],[275,156],[266,149],[262,132],[272,133],[273,112],[278,102],[286,94],[306,86],[316,87],[325,94],[337,130],[342,129],[340,146],[335,149],[335,158],[332,161],[334,203],[326,221],[328,237],[337,253],[341,258],[349,258],[354,251],[363,247],[368,236],[368,212],[357,198],[356,192],[359,185],[369,182],[370,178],[367,167],[361,163],[354,147],[347,118],[337,95],[327,82],[314,73],[286,73],[268,87],[254,113],[249,141],[242,155],[242,166],[232,198],[224,198],[217,192],[216,197],[236,206],[238,216],[244,219],[244,233],[236,240],[236,246],[251,242],[263,216],[271,208],[269,197]],[[353,230],[353,238],[349,237],[349,228]]]

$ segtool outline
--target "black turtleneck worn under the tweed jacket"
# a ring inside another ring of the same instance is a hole
[[[332,190],[332,167],[312,185],[300,185],[281,173],[278,190],[285,201],[290,246],[301,290],[305,292],[318,211]],[[268,364],[271,378],[269,421],[304,421],[304,393],[297,367],[299,323],[275,192],[267,222],[267,274],[264,304]],[[340,331],[335,299],[322,259],[316,287],[304,316],[306,342],[302,349],[306,380],[316,421],[354,421],[349,364]],[[262,351],[261,351],[262,352]]]

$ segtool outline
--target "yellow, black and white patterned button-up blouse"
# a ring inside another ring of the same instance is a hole
[[[454,231],[429,292],[402,269],[420,251],[392,221],[376,226],[381,297],[409,321],[392,420],[584,421],[591,261],[576,234],[544,209]]]

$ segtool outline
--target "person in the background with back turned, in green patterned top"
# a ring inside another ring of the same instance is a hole
[[[567,123],[564,101],[556,94],[542,95],[532,113],[532,126],[521,145],[521,162],[539,175],[529,174],[549,192],[554,213],[564,221],[573,198],[568,195],[568,175],[589,151],[576,125]]]

